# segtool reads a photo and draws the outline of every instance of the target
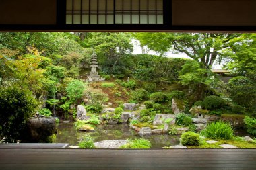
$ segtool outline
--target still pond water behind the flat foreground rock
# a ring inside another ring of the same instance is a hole
[[[170,136],[166,134],[139,136],[137,132],[129,128],[128,124],[100,125],[95,128],[95,132],[83,132],[75,130],[73,123],[60,123],[57,125],[57,130],[58,133],[54,142],[69,143],[70,145],[77,145],[86,134],[90,134],[94,142],[102,140],[146,138],[152,144],[152,148],[177,145],[179,144],[180,138],[180,136]]]

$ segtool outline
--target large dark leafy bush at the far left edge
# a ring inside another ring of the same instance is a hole
[[[0,140],[16,142],[24,129],[26,120],[38,108],[38,102],[31,91],[20,87],[0,88]]]

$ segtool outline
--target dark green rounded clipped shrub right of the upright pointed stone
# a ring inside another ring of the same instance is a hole
[[[203,104],[207,110],[214,110],[223,108],[226,105],[226,101],[222,97],[211,95],[203,99]]]

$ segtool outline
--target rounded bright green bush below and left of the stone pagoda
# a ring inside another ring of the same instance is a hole
[[[85,88],[86,86],[83,81],[72,80],[66,88],[67,97],[69,97],[71,101],[76,101],[82,97]]]

